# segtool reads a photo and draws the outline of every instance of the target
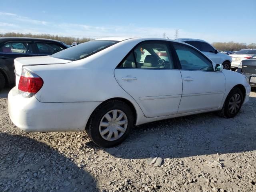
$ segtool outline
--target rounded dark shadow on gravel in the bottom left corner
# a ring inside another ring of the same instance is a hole
[[[94,192],[94,178],[48,145],[0,132],[0,191]]]

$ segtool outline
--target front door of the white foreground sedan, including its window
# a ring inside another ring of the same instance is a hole
[[[184,44],[173,46],[183,82],[178,113],[218,108],[226,87],[224,74],[214,71],[212,62],[196,49]]]

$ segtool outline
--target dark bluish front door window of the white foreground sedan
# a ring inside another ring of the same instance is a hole
[[[174,44],[174,48],[180,60],[182,69],[213,71],[212,63],[198,51],[178,44]]]

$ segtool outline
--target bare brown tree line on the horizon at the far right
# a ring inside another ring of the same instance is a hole
[[[246,44],[246,43],[237,43],[234,41],[230,42],[213,42],[212,45],[217,50],[227,50],[227,51],[239,51],[241,49],[256,49],[256,43]]]

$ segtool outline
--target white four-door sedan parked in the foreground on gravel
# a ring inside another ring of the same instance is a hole
[[[16,58],[15,69],[8,110],[18,128],[86,130],[103,147],[120,144],[134,125],[210,111],[232,118],[250,94],[242,74],[162,38],[92,40],[51,56]]]

